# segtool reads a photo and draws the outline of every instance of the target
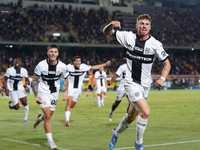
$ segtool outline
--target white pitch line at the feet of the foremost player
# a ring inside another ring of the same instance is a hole
[[[175,145],[175,144],[185,144],[185,143],[195,143],[200,142],[200,140],[194,140],[194,141],[182,141],[182,142],[173,142],[173,143],[163,143],[163,144],[153,144],[153,145],[145,145],[144,147],[156,147],[156,146],[166,146],[166,145]],[[115,148],[114,150],[120,150],[120,149],[132,149],[133,147],[122,147],[122,148]]]

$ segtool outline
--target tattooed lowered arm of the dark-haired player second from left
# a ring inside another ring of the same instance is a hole
[[[37,76],[36,74],[34,74],[32,88],[33,88],[33,92],[35,94],[36,103],[41,104],[42,103],[42,99],[38,96],[38,83],[39,83],[39,80],[40,80],[40,76]]]

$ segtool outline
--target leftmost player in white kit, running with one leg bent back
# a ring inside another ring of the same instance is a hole
[[[14,66],[6,70],[4,75],[4,87],[6,95],[10,96],[9,108],[19,109],[19,99],[24,105],[24,124],[28,124],[28,112],[29,106],[27,104],[26,91],[30,89],[30,81],[28,79],[28,72],[22,66],[22,62],[19,58],[14,59]],[[22,79],[25,78],[26,87],[24,88]]]

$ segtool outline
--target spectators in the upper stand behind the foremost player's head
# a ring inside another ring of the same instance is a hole
[[[68,8],[65,8],[64,5],[47,8],[35,4],[21,10],[22,13],[20,13],[20,11],[16,11],[18,8],[21,9],[20,5],[8,4],[2,7],[10,7],[13,10],[13,13],[10,14],[0,14],[1,38],[4,41],[116,44],[116,40],[105,38],[102,33],[102,25],[109,22],[109,18],[116,20],[121,20],[121,18],[114,16],[115,12],[112,14],[113,16],[110,15],[105,8],[90,9],[86,12],[85,8],[72,9],[70,5]],[[200,20],[199,16],[200,12],[197,10],[193,12],[168,11],[163,15],[154,14],[152,15],[154,24],[151,33],[164,45],[199,45],[200,31],[198,30],[199,25],[196,23]],[[67,32],[69,35],[54,37],[45,34],[51,30],[49,26],[52,26],[52,31],[56,31],[57,27],[59,31]]]

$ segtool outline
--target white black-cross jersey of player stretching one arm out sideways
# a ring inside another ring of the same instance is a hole
[[[79,69],[75,69],[74,65],[68,64],[67,65],[67,76],[68,76],[68,88],[82,88],[83,79],[86,75],[86,72],[91,69],[92,66],[86,65],[82,63]]]

